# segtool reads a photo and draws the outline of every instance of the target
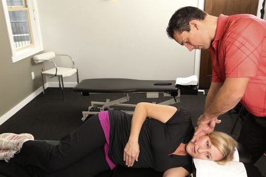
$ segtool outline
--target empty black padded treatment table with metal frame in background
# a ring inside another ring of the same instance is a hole
[[[88,111],[83,111],[84,121],[90,114],[97,114],[100,111],[113,109],[111,107],[136,107],[132,104],[124,104],[129,101],[129,93],[146,93],[147,98],[159,98],[159,93],[164,93],[164,97],[172,97],[171,99],[158,103],[162,105],[171,105],[180,102],[181,95],[198,95],[197,85],[180,85],[175,84],[175,80],[137,80],[126,78],[97,78],[84,79],[74,87],[74,91],[81,92],[83,96],[89,96],[91,93],[124,93],[126,96],[117,100],[106,102],[91,102]],[[97,107],[96,105],[101,105]],[[133,114],[133,111],[126,111]]]

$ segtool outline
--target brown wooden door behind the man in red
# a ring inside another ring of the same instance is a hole
[[[209,15],[218,17],[234,14],[257,15],[258,0],[205,0],[204,11]],[[211,55],[206,50],[201,51],[201,65],[199,87],[210,87],[212,77]]]

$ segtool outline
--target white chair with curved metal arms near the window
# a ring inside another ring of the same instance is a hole
[[[65,67],[57,67],[55,62],[52,61],[51,59],[55,58],[56,56],[66,56],[69,57],[69,59],[72,60],[72,68],[65,68]],[[57,76],[59,79],[59,88],[61,89],[61,81],[62,81],[62,94],[63,94],[63,99],[65,99],[64,96],[64,82],[63,82],[63,77],[69,77],[72,76],[74,73],[77,73],[77,79],[78,79],[78,83],[79,83],[79,73],[78,73],[78,69],[74,68],[74,60],[72,59],[72,57],[70,57],[69,55],[62,55],[62,54],[55,54],[54,52],[47,52],[47,53],[43,53],[40,55],[35,55],[33,57],[33,61],[37,64],[37,63],[41,63],[41,62],[50,62],[53,64],[53,68],[52,69],[48,69],[45,70],[43,72],[41,72],[42,74],[42,81],[43,81],[43,94],[45,94],[45,87],[44,87],[44,75],[50,75],[50,78]],[[61,78],[61,81],[60,81]]]

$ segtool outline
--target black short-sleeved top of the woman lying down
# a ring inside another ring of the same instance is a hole
[[[124,148],[130,135],[132,115],[122,111],[109,111],[110,149],[109,158],[115,164],[126,166]],[[192,172],[192,157],[172,154],[181,143],[188,143],[194,134],[191,114],[178,109],[166,122],[149,118],[144,121],[139,135],[140,153],[132,168],[154,168],[165,171],[169,168],[185,168]]]

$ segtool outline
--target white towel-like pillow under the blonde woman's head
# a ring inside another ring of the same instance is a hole
[[[193,159],[197,177],[247,177],[245,166],[239,162],[238,151],[234,153],[234,159],[225,165],[219,165],[214,161]]]

